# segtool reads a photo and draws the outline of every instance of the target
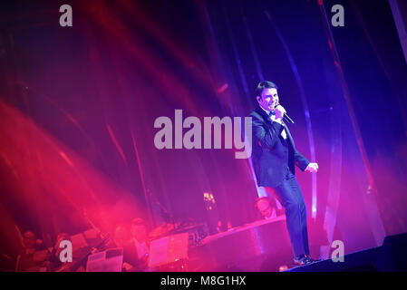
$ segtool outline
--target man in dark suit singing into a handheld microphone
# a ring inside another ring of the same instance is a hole
[[[295,165],[303,171],[316,172],[318,164],[309,162],[296,150],[283,121],[286,110],[278,102],[276,84],[258,83],[255,96],[259,107],[249,116],[252,117],[252,161],[257,185],[273,192],[286,209],[286,227],[294,263],[313,263],[315,260],[309,256],[305,202],[296,181]]]

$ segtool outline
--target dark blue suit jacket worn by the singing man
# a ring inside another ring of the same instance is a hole
[[[305,170],[309,161],[296,150],[293,137],[286,125],[271,121],[266,111],[257,107],[252,117],[252,162],[257,185],[275,188],[286,177],[287,167],[296,173],[295,165]],[[281,137],[286,130],[287,138]]]

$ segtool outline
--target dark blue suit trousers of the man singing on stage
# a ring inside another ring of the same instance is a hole
[[[294,256],[309,255],[306,209],[296,176],[287,168],[286,177],[271,191],[286,210],[286,227]]]

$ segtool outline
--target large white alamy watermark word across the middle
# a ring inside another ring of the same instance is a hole
[[[154,136],[154,146],[159,150],[212,149],[213,135],[213,149],[222,149],[223,137],[225,149],[234,147],[238,150],[235,152],[236,159],[247,159],[252,153],[252,119],[251,117],[244,119],[245,139],[243,140],[241,117],[234,117],[233,120],[228,116],[222,119],[216,116],[204,117],[202,125],[197,117],[191,116],[182,120],[182,110],[175,110],[174,122],[166,116],[161,116],[154,121],[154,128],[160,128]],[[222,134],[222,128],[224,134]],[[184,129],[189,130],[183,133]]]

